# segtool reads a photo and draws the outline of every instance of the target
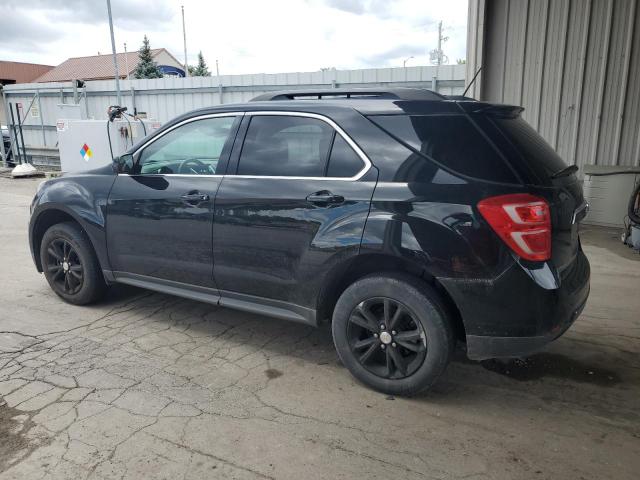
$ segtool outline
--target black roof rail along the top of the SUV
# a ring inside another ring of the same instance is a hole
[[[263,93],[252,102],[278,100],[321,100],[323,98],[372,98],[384,100],[445,100],[446,97],[424,88],[326,88],[320,90],[280,90]]]

